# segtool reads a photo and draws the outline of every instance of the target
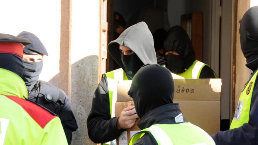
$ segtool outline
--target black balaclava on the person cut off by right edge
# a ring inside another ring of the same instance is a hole
[[[240,22],[240,43],[246,58],[246,66],[258,68],[258,6],[249,8]]]

